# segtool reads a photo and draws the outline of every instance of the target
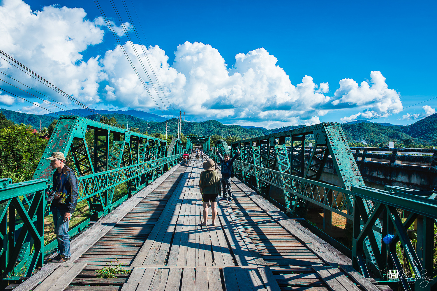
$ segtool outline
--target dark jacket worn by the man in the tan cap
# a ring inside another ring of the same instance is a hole
[[[53,199],[50,208],[53,209],[53,207],[59,207],[59,209],[65,210],[66,212],[68,211],[73,214],[74,210],[76,209],[77,196],[79,195],[79,192],[77,191],[76,174],[71,168],[67,166],[64,166],[64,168],[62,168],[61,173],[59,173],[56,169],[55,173],[53,174],[53,191],[58,191],[58,189],[62,188],[62,185],[58,185],[57,181],[59,175],[66,175],[67,177],[64,186],[68,196],[65,199],[64,204],[59,203],[61,199]]]

